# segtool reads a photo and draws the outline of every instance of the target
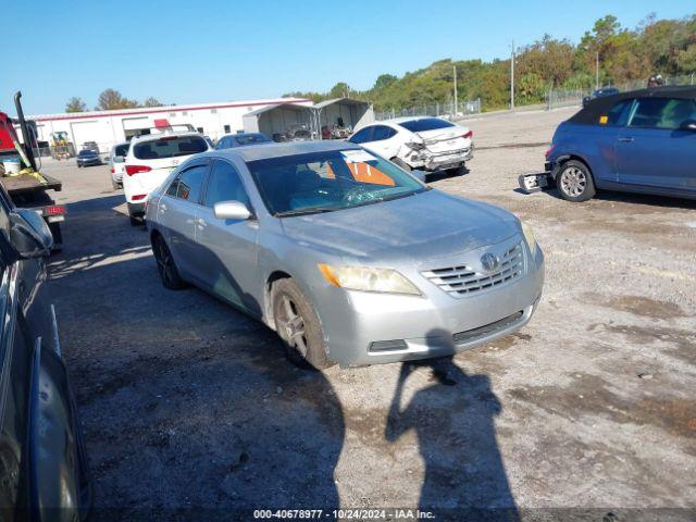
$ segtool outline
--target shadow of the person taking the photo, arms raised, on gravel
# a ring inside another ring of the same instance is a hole
[[[445,332],[428,337],[442,339]],[[433,384],[402,407],[401,395],[417,366],[432,370]],[[486,375],[468,374],[453,356],[401,365],[385,437],[396,442],[414,430],[425,464],[419,508],[437,520],[520,520],[496,440],[501,412]]]

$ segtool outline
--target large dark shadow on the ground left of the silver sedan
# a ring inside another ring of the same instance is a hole
[[[50,263],[92,520],[340,506],[345,422],[326,375],[289,364],[274,332],[208,294],[163,288],[147,234],[114,215],[121,202],[72,204]]]

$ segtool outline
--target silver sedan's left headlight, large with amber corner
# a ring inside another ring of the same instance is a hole
[[[318,266],[328,283],[340,288],[386,294],[421,295],[415,285],[396,270],[371,269],[368,266],[334,266],[323,263]]]

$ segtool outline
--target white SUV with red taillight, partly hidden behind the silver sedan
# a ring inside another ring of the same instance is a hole
[[[137,226],[145,215],[148,195],[186,158],[211,150],[198,133],[148,134],[130,140],[125,161],[123,192],[130,224]]]

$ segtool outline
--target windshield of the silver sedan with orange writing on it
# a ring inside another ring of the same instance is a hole
[[[248,163],[273,215],[331,212],[427,190],[389,161],[364,150],[333,150]]]

